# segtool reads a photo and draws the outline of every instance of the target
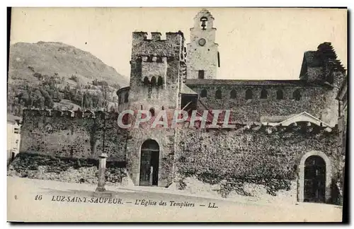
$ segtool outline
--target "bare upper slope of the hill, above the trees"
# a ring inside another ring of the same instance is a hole
[[[18,42],[11,45],[8,83],[36,83],[35,73],[52,76],[57,74],[69,82],[73,75],[80,83],[106,81],[108,85],[128,85],[128,78],[118,74],[91,53],[60,42]]]

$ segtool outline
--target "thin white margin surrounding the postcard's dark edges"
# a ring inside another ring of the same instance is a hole
[[[209,6],[209,7],[222,7],[222,6],[230,6],[230,4],[232,1],[215,1],[215,0],[204,0],[204,1],[190,1],[190,0],[180,0],[180,1],[147,1],[147,0],[130,0],[130,1],[107,1],[107,0],[100,0],[100,1],[92,1],[92,0],[81,0],[81,1],[74,1],[74,0],[52,0],[52,1],[45,1],[45,0],[33,0],[33,1],[28,1],[28,0],[14,0],[14,1],[8,1],[8,0],[4,0],[1,1],[1,72],[4,74],[6,73],[6,53],[7,53],[7,15],[6,15],[6,6],[122,6],[122,7],[127,7],[127,6],[135,6],[135,7],[139,7],[139,6],[167,6],[167,7],[173,7],[173,6],[179,6],[179,7],[193,7],[193,6]],[[304,6],[304,7],[331,7],[331,6],[342,6],[342,7],[348,7],[350,10],[353,10],[353,2],[352,0],[336,0],[336,1],[328,1],[328,0],[322,0],[322,1],[310,1],[310,0],[297,0],[297,1],[283,1],[283,0],[278,0],[278,1],[252,1],[252,0],[248,0],[248,1],[238,1],[236,3],[234,3],[234,6],[239,6],[239,7],[246,7],[246,6],[250,6],[250,7],[256,7],[256,6],[265,6],[265,7],[300,7],[300,6]],[[352,13],[352,12],[351,12]],[[353,16],[351,16],[353,17]],[[349,29],[349,28],[348,28]],[[350,31],[353,31],[353,23],[350,23]],[[350,36],[349,36],[350,37]],[[348,52],[350,52],[350,50],[348,50]],[[350,60],[350,64],[348,64],[348,66],[352,66],[353,64],[353,59]],[[5,74],[4,74],[5,75]],[[6,119],[6,96],[5,96],[5,92],[6,92],[6,76],[2,76],[1,80],[3,81],[3,83],[0,83],[1,86],[1,107],[3,107],[3,109],[1,110],[1,120],[2,122],[1,125],[4,125],[3,128],[0,127],[0,129],[2,131],[6,131],[6,127],[5,127],[5,119]],[[352,88],[354,87],[353,85],[351,86]],[[353,93],[351,93],[353,94]],[[352,101],[352,95],[350,95],[349,100]],[[351,119],[352,117],[350,117]],[[354,128],[354,122],[350,122],[350,130],[352,130]],[[5,139],[6,134],[1,134],[1,143],[0,146],[5,147],[6,146],[6,139]],[[350,137],[352,137],[353,135],[351,135]],[[353,142],[353,141],[349,141],[348,142]],[[5,165],[5,155],[6,150],[4,149],[3,151],[3,155],[4,155],[4,160],[2,160],[2,165]],[[350,152],[347,152],[348,154],[351,154]],[[350,161],[350,165],[353,165],[353,155],[350,157],[351,161]],[[5,168],[3,168],[3,171],[5,171]],[[353,175],[353,169],[351,169],[351,174],[350,177],[354,177]],[[1,187],[6,187],[6,175],[1,175]],[[352,189],[352,193],[353,193],[353,189]],[[350,193],[350,194],[352,194]],[[351,195],[353,197],[353,195]],[[6,222],[6,211],[7,211],[7,206],[6,204],[6,190],[2,189],[2,193],[1,193],[1,198],[2,201],[1,203],[1,216],[4,218],[1,218],[1,222],[4,223]],[[353,201],[353,198],[351,198]],[[350,203],[352,204],[352,203]],[[351,211],[353,212],[353,211]],[[6,223],[5,228],[8,228],[10,225],[8,223]],[[18,225],[16,225],[18,226]],[[37,225],[33,225],[33,226],[37,226]],[[52,225],[53,226],[61,226],[61,225]],[[65,228],[72,228],[74,227],[74,225],[62,225]],[[77,226],[77,225],[76,225]],[[82,227],[86,227],[86,225],[81,225]],[[94,225],[94,227],[97,227],[98,225]],[[115,225],[113,225],[115,226]],[[154,225],[152,225],[154,226]],[[168,225],[165,225],[168,226]],[[192,225],[181,225],[181,227],[185,228],[185,227],[189,227]],[[217,225],[213,225],[213,226],[217,226]],[[237,225],[238,227],[243,228],[243,225]],[[270,225],[272,226],[272,225]],[[119,225],[119,227],[125,227],[125,225]],[[249,228],[249,226],[248,226]]]

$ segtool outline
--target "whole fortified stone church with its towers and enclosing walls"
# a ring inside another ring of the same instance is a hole
[[[336,98],[346,70],[331,43],[304,52],[297,80],[224,80],[217,76],[222,63],[214,20],[206,9],[197,13],[188,44],[181,31],[166,33],[165,40],[157,32],[149,39],[132,33],[130,86],[117,91],[118,113],[28,110],[21,151],[47,153],[54,146],[43,139],[67,131],[55,155],[95,158],[104,151],[108,160],[126,162],[135,185],[183,189],[186,177],[196,177],[224,192],[244,193],[249,182],[270,194],[294,192],[297,201],[338,201],[345,151],[338,146]],[[231,110],[235,127],[120,129],[116,119],[124,110],[149,110],[152,117],[161,110]],[[51,126],[49,135],[35,131],[57,122],[70,127]]]

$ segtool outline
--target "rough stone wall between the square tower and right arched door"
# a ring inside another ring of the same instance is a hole
[[[245,183],[261,184],[269,194],[290,190],[297,181],[299,161],[309,151],[321,151],[331,160],[332,177],[341,173],[338,131],[322,127],[265,127],[250,129],[179,129],[175,155],[176,183],[185,177],[220,184],[222,195],[247,195]],[[333,184],[336,180],[333,181]],[[294,190],[292,190],[294,191]],[[294,196],[294,198],[296,198]]]

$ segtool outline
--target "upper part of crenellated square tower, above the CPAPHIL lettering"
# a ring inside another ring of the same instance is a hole
[[[184,42],[183,33],[166,33],[166,40],[161,40],[161,33],[152,33],[151,40],[147,33],[133,33],[130,110],[176,109],[185,65]]]

